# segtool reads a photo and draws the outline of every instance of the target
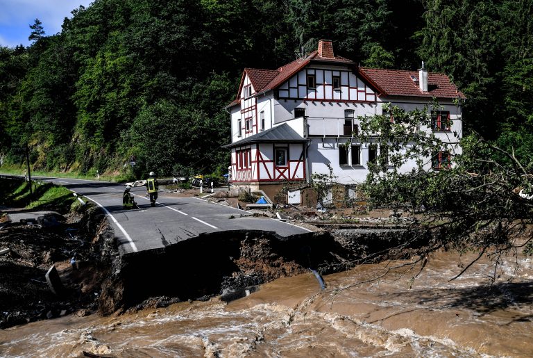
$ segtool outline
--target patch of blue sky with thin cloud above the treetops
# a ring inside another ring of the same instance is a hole
[[[80,5],[86,8],[94,0],[0,0],[0,46],[28,46],[30,25],[40,19],[46,35],[61,31],[65,17]]]

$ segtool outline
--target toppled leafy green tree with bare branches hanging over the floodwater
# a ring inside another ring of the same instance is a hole
[[[436,102],[432,105],[438,107]],[[419,273],[431,252],[455,249],[479,255],[452,279],[489,255],[494,280],[501,255],[519,247],[533,253],[533,234],[527,229],[533,219],[532,159],[521,162],[514,150],[501,149],[476,133],[464,138],[447,133],[443,140],[442,132],[431,130],[427,107],[406,112],[384,105],[384,111],[387,115],[359,118],[357,139],[380,147],[378,160],[369,164],[364,190],[371,206],[409,213],[414,234],[398,247],[370,254],[354,265],[384,254],[399,259],[410,248],[414,259],[401,266],[418,268]],[[409,160],[416,168],[400,172]]]

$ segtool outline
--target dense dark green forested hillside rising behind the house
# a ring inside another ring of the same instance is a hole
[[[83,174],[222,172],[244,67],[320,38],[364,66],[449,74],[464,124],[531,161],[533,0],[96,0],[0,47],[0,161]]]

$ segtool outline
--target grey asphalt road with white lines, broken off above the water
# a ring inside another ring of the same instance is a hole
[[[285,238],[310,232],[286,222],[254,218],[246,211],[197,197],[172,197],[164,191],[160,191],[156,206],[151,207],[144,187],[130,190],[140,209],[124,210],[124,184],[48,177],[35,179],[53,181],[101,206],[115,229],[121,254],[164,247],[217,231],[264,230]]]

